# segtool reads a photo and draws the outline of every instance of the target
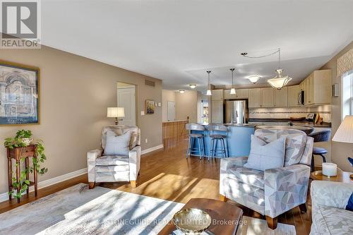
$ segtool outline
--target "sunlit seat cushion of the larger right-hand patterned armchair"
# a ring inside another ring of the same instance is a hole
[[[256,169],[249,169],[246,167],[234,167],[228,170],[228,177],[230,179],[237,179],[241,183],[246,183],[251,186],[261,188],[264,187],[264,174],[263,171]]]

